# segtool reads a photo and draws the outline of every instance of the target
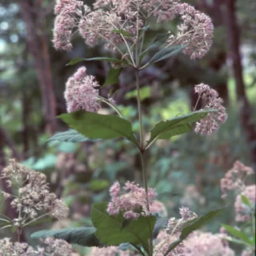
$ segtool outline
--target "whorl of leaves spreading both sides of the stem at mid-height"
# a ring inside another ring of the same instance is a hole
[[[196,111],[188,115],[178,116],[170,120],[164,120],[156,124],[150,131],[150,140],[147,141],[146,149],[156,140],[171,138],[191,131],[191,124],[204,118],[209,111]],[[100,115],[87,111],[76,111],[58,116],[72,129],[55,134],[49,140],[83,142],[90,139],[113,139],[126,138],[138,146],[138,141],[132,131],[132,124],[124,118],[115,115]],[[79,132],[79,133],[78,133]]]

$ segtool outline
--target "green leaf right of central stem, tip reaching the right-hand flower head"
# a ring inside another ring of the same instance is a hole
[[[159,122],[150,131],[150,140],[147,141],[146,148],[151,145],[155,140],[169,139],[172,136],[179,135],[192,130],[191,124],[204,118],[209,112],[215,110],[200,110],[189,113],[184,116],[177,116],[170,120]]]

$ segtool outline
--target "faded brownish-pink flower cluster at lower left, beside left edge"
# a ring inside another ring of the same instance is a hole
[[[12,199],[11,205],[18,212],[19,217],[13,220],[16,227],[25,227],[44,216],[59,220],[68,216],[68,207],[63,199],[50,193],[44,173],[35,172],[11,159],[0,178],[16,191],[14,195],[3,193],[5,198]]]

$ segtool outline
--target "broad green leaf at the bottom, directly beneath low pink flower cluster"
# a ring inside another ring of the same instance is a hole
[[[140,216],[138,220],[125,223],[122,213],[117,216],[110,216],[106,211],[107,207],[108,203],[92,205],[91,219],[97,228],[96,235],[100,241],[113,246],[122,243],[142,245],[148,251],[148,239],[152,237],[156,217]]]

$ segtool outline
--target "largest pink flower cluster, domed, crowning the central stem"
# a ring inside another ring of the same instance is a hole
[[[168,45],[185,45],[183,52],[191,59],[202,58],[212,44],[211,19],[180,0],[97,0],[93,10],[83,1],[58,0],[55,13],[54,47],[65,51],[72,49],[70,40],[76,31],[86,44],[94,46],[103,40],[111,51],[120,44],[134,44],[150,17],[166,22],[180,16],[182,23],[177,35],[170,33]]]

